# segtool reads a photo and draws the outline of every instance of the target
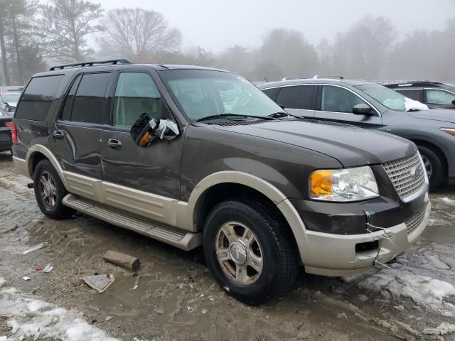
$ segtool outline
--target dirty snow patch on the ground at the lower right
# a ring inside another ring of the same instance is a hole
[[[388,290],[395,296],[410,297],[415,303],[432,308],[443,316],[455,316],[455,306],[444,301],[444,298],[455,296],[455,286],[451,283],[401,269],[382,269],[373,275],[362,274],[344,279],[367,290]]]

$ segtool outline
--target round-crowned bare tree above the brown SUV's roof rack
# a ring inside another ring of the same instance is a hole
[[[149,61],[156,53],[176,50],[181,43],[180,31],[168,28],[164,16],[156,11],[112,9],[102,24],[102,50],[137,63]]]

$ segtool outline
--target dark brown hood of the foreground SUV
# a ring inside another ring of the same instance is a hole
[[[383,163],[417,151],[412,142],[395,135],[325,122],[265,121],[216,128],[311,149],[336,158],[344,167]]]

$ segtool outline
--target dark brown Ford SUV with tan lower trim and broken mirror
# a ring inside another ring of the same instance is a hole
[[[422,234],[431,205],[412,142],[292,117],[223,70],[53,67],[28,82],[12,131],[45,215],[79,210],[202,245],[220,286],[249,304],[282,295],[300,264],[325,276],[385,264]]]

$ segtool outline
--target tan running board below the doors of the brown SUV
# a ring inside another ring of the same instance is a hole
[[[123,227],[124,229],[131,229],[146,237],[157,239],[166,244],[171,244],[173,247],[178,247],[178,249],[185,251],[195,249],[202,244],[200,233],[183,232],[178,229],[160,227],[147,220],[141,220],[129,215],[122,215],[122,213],[119,213],[119,210],[115,208],[97,204],[96,202],[86,200],[77,195],[66,195],[63,198],[63,205],[87,213],[87,215],[104,220],[110,224]]]

